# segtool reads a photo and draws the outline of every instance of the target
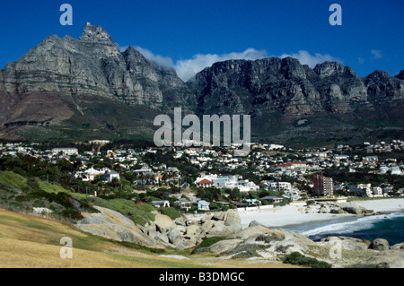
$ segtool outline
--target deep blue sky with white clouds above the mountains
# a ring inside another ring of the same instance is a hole
[[[330,4],[342,26],[329,24]],[[59,22],[61,4],[73,25]],[[183,79],[227,58],[294,56],[312,67],[324,60],[359,76],[404,69],[402,0],[15,0],[0,8],[0,68],[49,35],[79,38],[86,22],[107,30],[120,48],[132,45],[171,65]]]

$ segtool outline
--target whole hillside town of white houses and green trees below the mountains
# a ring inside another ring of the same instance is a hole
[[[106,148],[94,148],[100,144]],[[400,140],[310,150],[251,144],[247,157],[233,156],[233,147],[108,144],[95,140],[47,149],[34,143],[1,143],[0,158],[29,156],[66,165],[66,176],[75,183],[70,187],[77,192],[127,195],[138,203],[184,212],[289,204],[323,196],[404,195]],[[45,177],[49,174],[41,179]]]

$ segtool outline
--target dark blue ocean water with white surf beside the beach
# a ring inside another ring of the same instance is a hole
[[[314,241],[330,236],[345,236],[371,241],[385,238],[390,245],[394,245],[404,242],[404,212],[304,223],[284,229],[301,233]]]

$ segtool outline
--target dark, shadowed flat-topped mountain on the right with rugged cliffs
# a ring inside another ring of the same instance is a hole
[[[359,78],[336,62],[312,69],[294,58],[273,57],[215,63],[188,83],[200,112],[250,114],[257,139],[286,142],[360,137],[394,124],[400,129],[400,77],[376,71]]]

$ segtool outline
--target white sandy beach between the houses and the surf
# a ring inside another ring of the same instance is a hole
[[[363,206],[374,212],[398,212],[404,210],[404,198],[356,201],[351,204]],[[242,228],[247,228],[251,221],[258,221],[268,228],[281,228],[314,221],[331,221],[355,216],[353,214],[302,213],[299,212],[299,208],[301,208],[300,205],[285,205],[266,210],[240,211]]]

